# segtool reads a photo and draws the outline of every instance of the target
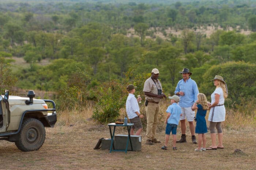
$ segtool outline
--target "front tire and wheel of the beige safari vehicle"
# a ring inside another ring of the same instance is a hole
[[[38,150],[45,142],[45,127],[41,121],[29,118],[23,121],[15,145],[27,152]]]

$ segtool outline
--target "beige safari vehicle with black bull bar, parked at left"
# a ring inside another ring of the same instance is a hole
[[[57,121],[54,101],[33,97],[33,90],[27,97],[9,96],[8,90],[0,95],[0,140],[15,142],[25,152],[38,150],[45,141],[45,127],[53,127]]]

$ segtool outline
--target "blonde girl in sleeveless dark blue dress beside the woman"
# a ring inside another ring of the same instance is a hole
[[[197,100],[192,106],[192,109],[197,109],[196,112],[196,134],[198,134],[198,148],[195,151],[206,151],[206,136],[204,135],[207,133],[207,126],[206,126],[206,112],[208,108],[207,98],[203,93],[197,94]],[[201,148],[203,140],[203,147]]]

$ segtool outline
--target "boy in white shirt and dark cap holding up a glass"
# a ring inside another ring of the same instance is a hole
[[[140,108],[138,101],[141,100],[141,98],[136,99],[134,96],[135,93],[135,87],[134,85],[130,84],[127,86],[127,91],[129,92],[129,95],[126,100],[126,113],[128,118],[130,119],[130,122],[134,125],[131,127],[131,135],[134,135],[135,128],[138,129],[135,135],[140,135],[140,132],[142,131],[142,123],[140,121],[140,118],[143,118],[144,116],[140,114]]]

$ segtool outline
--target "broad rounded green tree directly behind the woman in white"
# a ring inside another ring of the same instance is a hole
[[[234,74],[235,73],[235,74]],[[256,65],[245,62],[226,62],[220,65],[214,65],[206,70],[203,74],[203,80],[210,80],[215,75],[220,75],[227,83],[227,89],[229,90],[226,104],[244,104],[241,103],[241,99],[252,100],[256,94]],[[202,93],[206,96],[210,96],[214,91],[214,87],[211,81],[204,81],[201,88]],[[226,100],[225,100],[226,101]]]

